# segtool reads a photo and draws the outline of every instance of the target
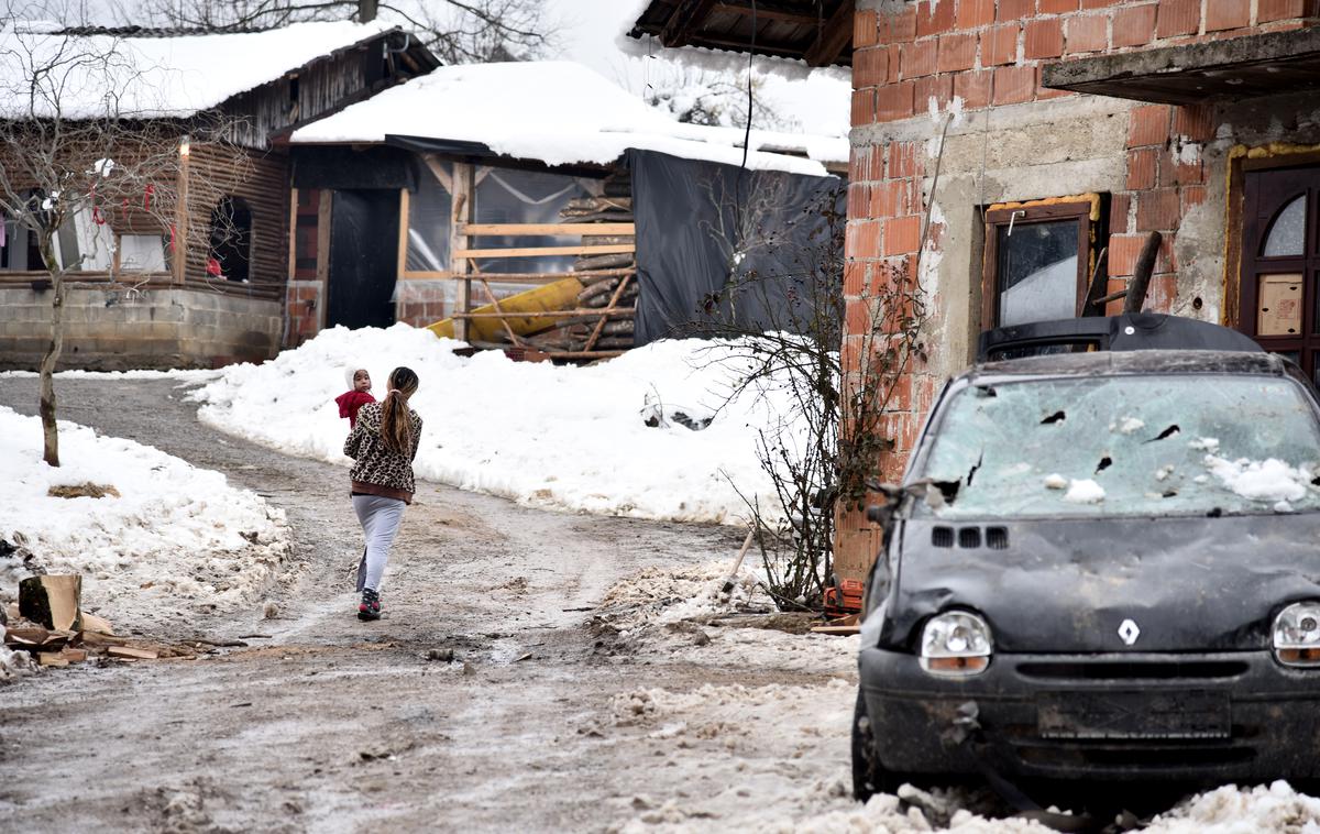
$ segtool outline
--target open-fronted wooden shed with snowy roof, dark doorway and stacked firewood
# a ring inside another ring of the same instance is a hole
[[[744,153],[742,129],[680,124],[568,62],[441,67],[300,128],[289,342],[401,321],[557,359],[627,350],[648,301],[671,317],[690,301],[659,298],[663,256],[647,263],[639,230],[706,236],[630,158],[672,161],[689,202],[744,169],[837,187],[846,168],[842,137],[750,140]]]

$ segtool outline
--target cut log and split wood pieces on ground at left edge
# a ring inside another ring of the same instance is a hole
[[[18,603],[0,610],[0,631],[5,648],[28,652],[42,666],[195,656],[187,648],[116,636],[107,620],[82,610],[82,577],[75,574],[20,582]]]

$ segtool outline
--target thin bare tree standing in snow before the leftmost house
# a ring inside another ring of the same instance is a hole
[[[161,67],[143,66],[123,41],[25,30],[11,7],[0,34],[0,211],[11,253],[21,241],[45,272],[50,343],[40,366],[44,458],[59,466],[54,371],[63,350],[66,282],[83,269],[124,277],[115,228],[170,231],[182,257],[191,224],[174,228],[187,136],[216,135],[219,117],[158,115],[150,91]],[[147,91],[144,98],[143,91]],[[178,239],[174,239],[174,236]],[[205,243],[203,243],[205,245]],[[162,252],[164,257],[164,252]]]

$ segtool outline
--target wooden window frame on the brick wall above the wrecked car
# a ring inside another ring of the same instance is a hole
[[[1032,223],[1053,223],[1073,219],[1077,222],[1077,296],[1073,315],[1086,314],[1085,304],[1090,286],[1092,252],[1100,239],[1100,195],[1088,194],[1080,198],[1051,198],[1023,203],[990,206],[985,211],[985,253],[981,261],[981,329],[999,327],[999,228],[1012,224],[1014,228]],[[1098,313],[1097,313],[1098,314]]]

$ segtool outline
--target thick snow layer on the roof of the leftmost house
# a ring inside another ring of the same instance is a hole
[[[5,26],[0,116],[53,116],[57,108],[67,119],[190,116],[389,29],[379,21],[330,21],[232,34],[114,37]],[[53,70],[32,106],[28,82],[42,67]]]

